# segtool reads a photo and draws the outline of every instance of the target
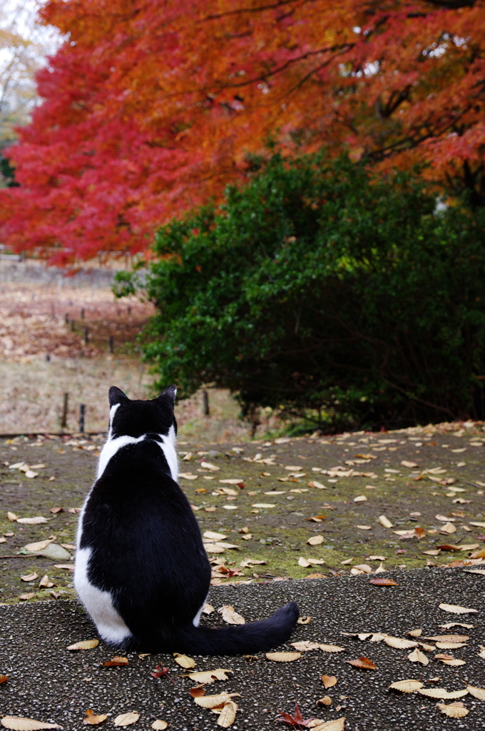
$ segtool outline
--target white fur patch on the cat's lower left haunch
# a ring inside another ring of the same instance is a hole
[[[109,591],[93,586],[88,579],[88,565],[91,548],[81,548],[76,552],[74,584],[81,602],[88,610],[99,635],[107,643],[121,643],[131,632],[113,607]]]

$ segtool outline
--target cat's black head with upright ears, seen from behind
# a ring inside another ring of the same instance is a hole
[[[164,434],[175,444],[177,421],[174,406],[177,389],[168,386],[149,401],[131,400],[121,388],[110,388],[110,437]]]

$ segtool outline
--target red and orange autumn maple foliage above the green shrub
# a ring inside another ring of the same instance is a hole
[[[65,44],[9,152],[1,238],[52,262],[153,230],[284,153],[348,149],[485,202],[485,0],[49,0]]]

